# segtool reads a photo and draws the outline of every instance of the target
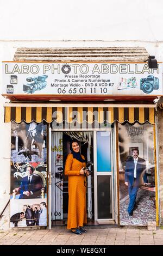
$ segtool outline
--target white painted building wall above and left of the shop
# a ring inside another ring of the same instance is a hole
[[[0,62],[12,60],[17,47],[109,46],[146,47],[163,61],[162,9],[161,0],[0,0]],[[0,213],[10,192],[10,124],[3,120],[5,101],[0,96]],[[0,220],[0,229],[8,228],[9,208]]]

